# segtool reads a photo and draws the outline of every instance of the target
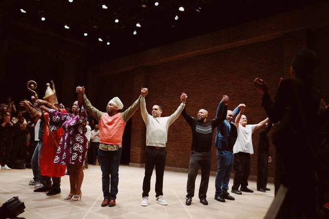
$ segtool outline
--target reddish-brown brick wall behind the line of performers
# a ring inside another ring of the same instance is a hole
[[[253,80],[263,78],[274,97],[279,78],[289,75],[293,56],[305,47],[319,54],[315,84],[321,86],[329,101],[328,9],[329,3],[323,2],[93,66],[91,84],[97,83],[99,92],[105,94],[97,102],[102,101],[105,106],[109,96],[118,95],[127,107],[140,94],[140,88],[147,87],[148,111],[154,104],[160,104],[163,116],[169,116],[178,107],[181,92],[185,92],[189,96],[186,104],[189,114],[196,116],[204,108],[209,118],[214,118],[221,96],[226,94],[230,97],[229,109],[245,103],[248,123],[256,124],[266,116]],[[116,79],[116,84],[112,79]],[[130,162],[142,164],[145,125],[139,111],[132,119],[131,138]],[[191,141],[191,129],[179,117],[169,128],[166,166],[188,168]],[[257,133],[253,135],[253,145],[251,175],[257,175]],[[273,147],[270,153],[274,156]],[[273,166],[273,163],[269,165],[269,177],[273,176]],[[216,167],[213,147],[211,170],[215,171]]]

